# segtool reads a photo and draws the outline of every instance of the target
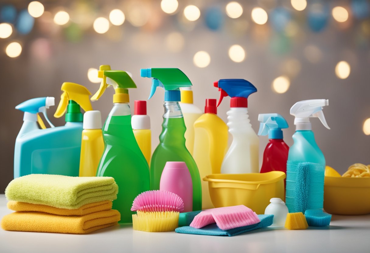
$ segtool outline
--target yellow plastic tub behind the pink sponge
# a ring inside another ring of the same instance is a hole
[[[218,207],[245,205],[257,214],[265,213],[271,198],[285,200],[284,179],[281,171],[248,174],[212,174],[208,181],[209,195]]]

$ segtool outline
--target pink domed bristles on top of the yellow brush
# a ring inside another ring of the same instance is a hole
[[[173,192],[148,190],[140,193],[132,203],[131,211],[142,212],[181,212],[184,202]]]

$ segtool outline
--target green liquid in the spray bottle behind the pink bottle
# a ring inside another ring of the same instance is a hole
[[[178,106],[178,105],[177,105]],[[159,182],[166,162],[185,162],[193,183],[193,210],[202,209],[202,186],[198,167],[185,146],[186,127],[184,118],[164,118],[159,145],[155,149],[150,166],[150,188],[159,189]]]

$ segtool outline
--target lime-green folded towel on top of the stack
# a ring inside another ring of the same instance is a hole
[[[13,179],[5,189],[8,200],[77,209],[83,205],[117,199],[118,186],[111,177],[74,177],[31,174]]]

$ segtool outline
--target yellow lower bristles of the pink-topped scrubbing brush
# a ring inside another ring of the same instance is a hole
[[[141,212],[132,215],[132,228],[145,232],[168,232],[178,227],[179,212]]]

